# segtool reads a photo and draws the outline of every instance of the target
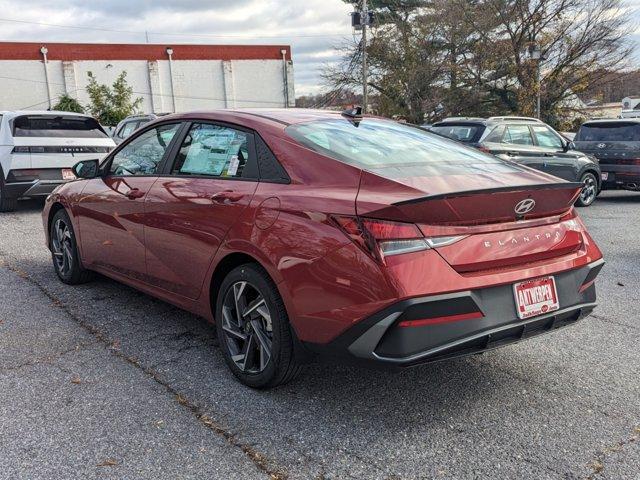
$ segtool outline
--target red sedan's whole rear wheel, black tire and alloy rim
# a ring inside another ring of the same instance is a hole
[[[238,311],[250,313],[238,316]],[[284,303],[259,265],[249,263],[229,272],[218,291],[215,318],[225,361],[245,385],[272,388],[300,372]]]

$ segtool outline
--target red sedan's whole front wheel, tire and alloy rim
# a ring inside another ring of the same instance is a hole
[[[76,234],[69,215],[64,209],[56,212],[49,228],[49,248],[53,268],[58,278],[68,285],[79,285],[90,281],[93,272],[82,266],[78,254]]]

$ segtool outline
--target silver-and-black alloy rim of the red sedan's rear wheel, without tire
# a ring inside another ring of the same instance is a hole
[[[222,330],[236,366],[260,373],[272,356],[273,325],[264,296],[249,282],[231,285],[222,304]]]

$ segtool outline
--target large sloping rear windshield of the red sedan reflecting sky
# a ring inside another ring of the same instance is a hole
[[[475,148],[391,121],[320,120],[286,131],[318,153],[367,170],[385,169],[396,177],[518,171]]]

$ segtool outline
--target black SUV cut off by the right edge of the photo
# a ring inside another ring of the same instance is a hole
[[[602,188],[640,191],[640,118],[585,122],[575,142],[599,159]]]

